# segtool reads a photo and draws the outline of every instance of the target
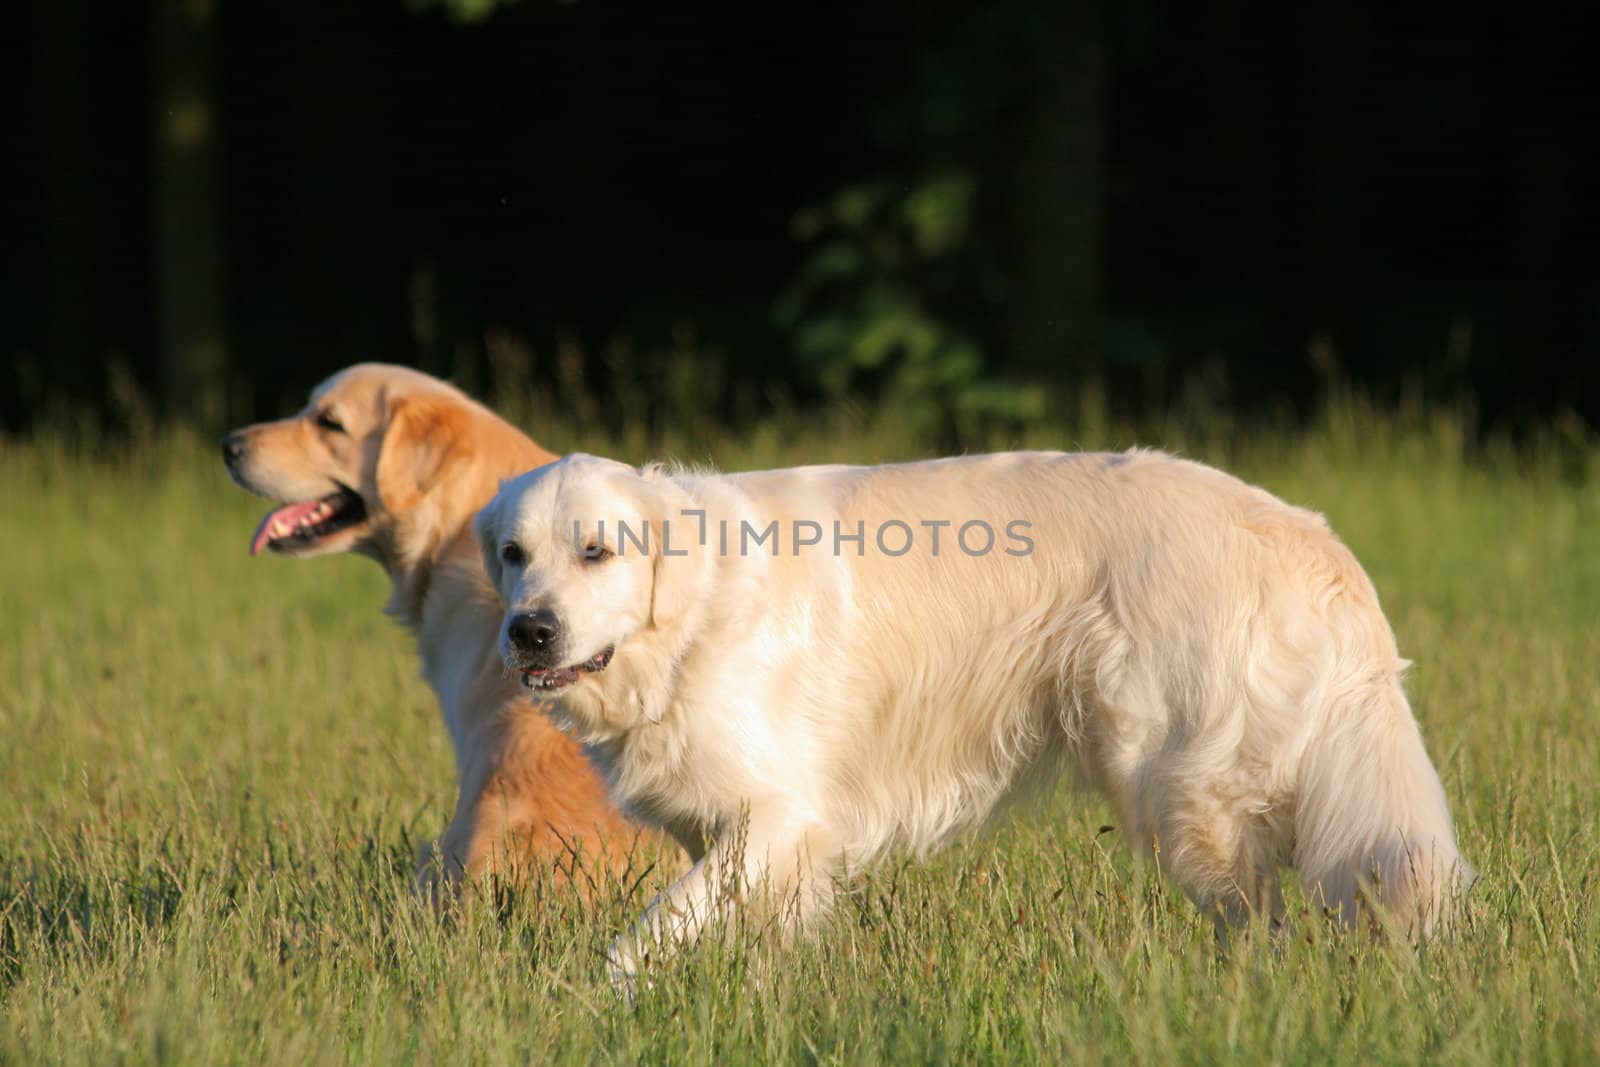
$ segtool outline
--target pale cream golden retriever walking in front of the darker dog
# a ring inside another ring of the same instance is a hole
[[[1152,451],[738,475],[570,456],[478,517],[501,653],[629,809],[715,841],[630,981],[738,899],[786,918],[1067,766],[1219,925],[1277,870],[1426,931],[1467,869],[1405,661],[1322,517]],[[738,846],[728,845],[738,838]]]

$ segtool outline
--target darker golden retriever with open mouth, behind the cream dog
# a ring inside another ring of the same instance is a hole
[[[461,776],[438,840],[446,883],[568,878],[581,859],[587,888],[608,865],[634,862],[637,827],[499,662],[501,608],[472,536],[472,515],[501,480],[550,453],[435,378],[363,363],[318,386],[299,414],[229,434],[222,456],[234,482],[283,502],[261,520],[251,553],[357,552],[389,574],[387,611],[416,635]],[[434,870],[424,849],[418,875],[427,883]]]

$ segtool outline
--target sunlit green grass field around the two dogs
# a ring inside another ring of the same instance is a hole
[[[1021,443],[1134,440],[1074,426]],[[1138,435],[1325,512],[1368,566],[1483,875],[1456,939],[1301,912],[1222,953],[1062,789],[861,880],[792,950],[718,931],[632,1008],[600,953],[648,886],[411,896],[453,766],[378,568],[250,560],[262,502],[182,435],[0,445],[0,1062],[1600,1061],[1600,456],[1459,427],[1341,402],[1307,432]],[[920,451],[794,427],[619,450]]]

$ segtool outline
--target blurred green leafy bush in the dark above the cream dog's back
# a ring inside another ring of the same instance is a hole
[[[986,373],[978,341],[941,310],[970,285],[974,182],[851,186],[795,214],[808,254],[778,322],[834,400],[866,395],[918,437],[971,437],[1043,413],[1038,386]]]

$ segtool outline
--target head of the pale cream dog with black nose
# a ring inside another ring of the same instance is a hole
[[[507,482],[478,512],[507,608],[501,656],[526,688],[597,683],[618,646],[682,614],[693,573],[682,502],[662,475],[579,453]]]

